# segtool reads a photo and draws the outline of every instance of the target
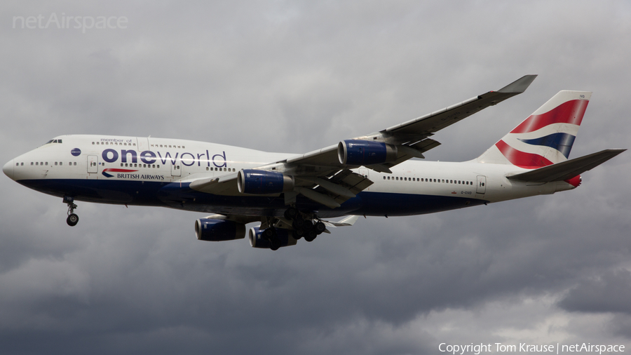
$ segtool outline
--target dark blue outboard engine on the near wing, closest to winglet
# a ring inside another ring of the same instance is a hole
[[[381,164],[397,159],[397,147],[369,140],[343,140],[337,145],[337,156],[347,165]]]

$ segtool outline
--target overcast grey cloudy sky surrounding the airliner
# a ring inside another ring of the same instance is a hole
[[[99,16],[121,22],[89,28]],[[524,74],[539,74],[526,93],[441,131],[427,158],[475,158],[564,89],[594,92],[571,156],[628,148],[630,43],[628,1],[4,1],[0,161],[72,133],[308,152]],[[2,175],[0,349],[629,350],[630,174],[626,152],[571,192],[362,218],[277,252],[197,241],[203,215],[165,208],[79,203],[70,228],[61,199]]]

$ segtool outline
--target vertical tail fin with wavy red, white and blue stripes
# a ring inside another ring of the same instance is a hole
[[[567,161],[591,95],[589,91],[559,91],[477,161],[527,169]]]

